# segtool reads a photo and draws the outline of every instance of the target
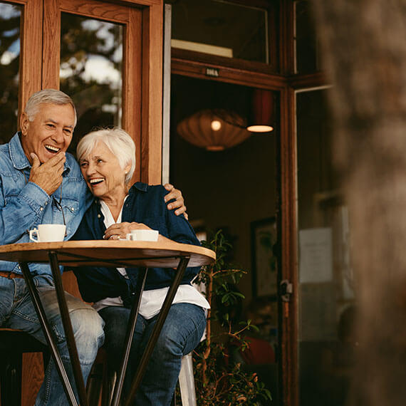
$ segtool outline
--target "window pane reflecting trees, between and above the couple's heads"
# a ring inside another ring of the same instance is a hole
[[[121,124],[122,62],[123,26],[62,14],[61,90],[78,111],[71,152],[95,127]]]

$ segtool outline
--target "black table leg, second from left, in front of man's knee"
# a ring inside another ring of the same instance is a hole
[[[76,348],[75,335],[73,335],[73,328],[71,318],[69,317],[68,305],[66,304],[65,291],[63,290],[61,270],[59,269],[58,256],[55,251],[48,253],[49,263],[51,264],[51,271],[53,275],[53,282],[56,288],[56,297],[58,298],[59,311],[61,312],[61,319],[63,330],[65,330],[66,343],[68,345],[69,357],[71,358],[71,365],[73,370],[73,377],[75,378],[76,389],[78,390],[78,397],[81,406],[88,406],[88,397],[86,395],[85,382],[83,380],[82,369],[80,368],[78,349]]]

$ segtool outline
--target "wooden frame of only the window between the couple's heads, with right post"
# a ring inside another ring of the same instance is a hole
[[[124,24],[123,128],[137,145],[133,180],[160,182],[162,150],[162,1],[53,0],[44,9],[43,88],[59,87],[61,12]],[[137,32],[140,27],[140,32]],[[131,31],[129,31],[131,30]],[[142,44],[137,46],[137,43]],[[52,50],[49,53],[49,50]],[[137,53],[139,52],[139,53]],[[131,68],[130,63],[132,61]]]

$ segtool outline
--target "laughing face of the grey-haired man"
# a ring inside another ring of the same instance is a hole
[[[21,117],[21,144],[28,161],[32,164],[34,152],[41,164],[58,152],[66,152],[71,144],[75,112],[70,104],[43,103],[39,106],[33,121],[26,113]]]

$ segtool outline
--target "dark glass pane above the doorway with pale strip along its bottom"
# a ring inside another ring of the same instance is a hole
[[[172,5],[172,48],[269,63],[267,19],[266,10],[252,6],[177,0]]]

